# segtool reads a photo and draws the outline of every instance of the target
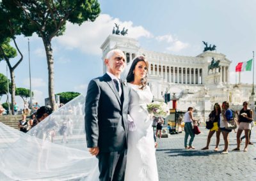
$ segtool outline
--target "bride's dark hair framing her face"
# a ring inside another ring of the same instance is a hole
[[[136,57],[136,59],[134,59],[134,61],[132,61],[132,65],[131,65],[131,68],[129,69],[129,73],[127,75],[127,82],[132,82],[134,81],[134,69],[136,67],[136,65],[138,64],[138,62],[145,62],[145,64],[147,65],[148,67],[148,62],[146,61],[145,57],[143,56],[140,56],[140,57]],[[147,85],[147,73],[146,73],[146,76],[144,78],[141,78],[140,80],[140,89],[143,89],[146,85]]]

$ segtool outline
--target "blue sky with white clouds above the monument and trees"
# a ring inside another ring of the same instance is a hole
[[[237,62],[252,59],[252,51],[256,51],[256,1],[253,0],[101,0],[99,3],[101,13],[95,22],[81,26],[67,24],[65,34],[52,40],[56,93],[85,94],[88,82],[102,75],[100,45],[112,33],[115,22],[127,27],[128,36],[137,38],[147,50],[196,56],[204,49],[202,41],[216,45],[217,52],[232,61],[232,83],[235,83]],[[44,105],[44,98],[48,97],[44,46],[36,34],[29,39],[32,89],[35,101]],[[15,69],[17,87],[29,88],[28,38],[19,36],[17,41],[24,55]],[[0,73],[6,75],[4,61],[0,62]],[[242,73],[241,82],[252,83],[252,72]],[[22,99],[16,99],[22,108]],[[5,100],[3,97],[1,103]]]

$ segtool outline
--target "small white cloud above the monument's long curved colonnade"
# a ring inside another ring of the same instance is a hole
[[[187,48],[189,46],[189,43],[184,43],[178,40],[178,38],[173,37],[172,34],[157,36],[156,40],[159,42],[168,43],[168,47],[166,47],[166,50],[172,51],[172,52],[179,52],[180,50]]]

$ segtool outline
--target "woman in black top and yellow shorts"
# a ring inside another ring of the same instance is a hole
[[[220,128],[218,126],[218,122],[220,122],[220,114],[221,114],[221,108],[218,103],[214,104],[214,108],[212,112],[209,114],[209,121],[213,122],[213,127],[210,129],[208,136],[207,136],[207,145],[206,147],[202,148],[202,150],[209,150],[209,145],[211,142],[211,138],[213,134],[216,132],[216,146],[214,148],[214,151],[218,151],[218,146],[220,143]]]

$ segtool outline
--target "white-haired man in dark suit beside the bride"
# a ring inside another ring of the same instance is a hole
[[[121,82],[125,55],[111,50],[105,75],[91,80],[85,102],[87,147],[99,159],[100,180],[124,180],[127,153],[129,89]]]

